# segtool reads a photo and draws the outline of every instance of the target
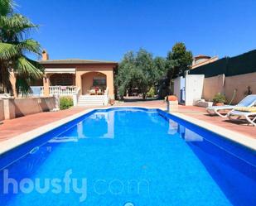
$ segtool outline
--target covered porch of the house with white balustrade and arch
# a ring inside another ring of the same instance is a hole
[[[113,75],[99,71],[76,72],[75,69],[46,69],[41,84],[31,87],[35,96],[86,96],[108,95],[109,88],[114,90]],[[114,96],[114,91],[112,91]]]

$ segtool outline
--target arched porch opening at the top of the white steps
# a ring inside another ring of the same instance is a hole
[[[102,95],[107,88],[107,76],[100,72],[88,72],[82,75],[82,94]]]

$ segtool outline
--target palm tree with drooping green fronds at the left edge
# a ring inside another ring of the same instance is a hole
[[[41,55],[40,44],[27,38],[38,26],[27,17],[14,13],[12,0],[0,0],[0,92],[13,93],[10,72],[16,76],[17,93],[31,93],[30,85],[41,79],[43,67],[27,54]],[[2,91],[1,91],[2,90]]]

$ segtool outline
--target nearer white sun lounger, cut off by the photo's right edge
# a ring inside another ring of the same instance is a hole
[[[241,117],[244,117],[245,119]],[[256,126],[256,112],[241,112],[233,110],[229,112],[228,118],[232,121],[248,122]]]

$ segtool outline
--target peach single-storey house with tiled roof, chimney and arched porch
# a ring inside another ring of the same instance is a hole
[[[114,69],[118,63],[101,60],[50,60],[46,50],[42,52],[41,65],[45,67],[42,79],[43,94],[103,95],[108,92],[114,98]],[[40,84],[40,83],[39,83]]]

